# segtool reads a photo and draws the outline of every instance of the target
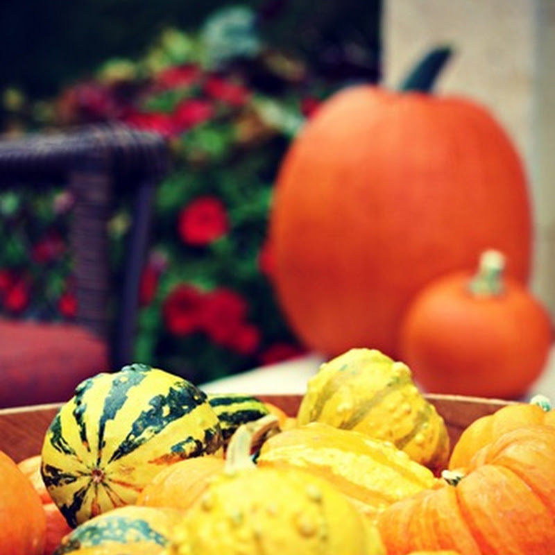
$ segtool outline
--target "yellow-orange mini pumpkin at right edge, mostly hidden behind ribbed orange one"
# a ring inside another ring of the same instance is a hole
[[[555,411],[545,411],[537,404],[514,403],[493,414],[478,418],[463,430],[455,443],[449,459],[450,470],[467,468],[472,456],[481,447],[492,443],[512,429],[530,424],[555,426]]]

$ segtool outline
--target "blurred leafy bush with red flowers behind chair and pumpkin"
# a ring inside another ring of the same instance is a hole
[[[111,7],[101,28],[119,20],[125,35],[140,27],[137,3],[92,5]],[[122,48],[93,69],[81,65],[71,76],[67,68],[50,98],[14,85],[3,92],[3,127],[12,133],[117,120],[167,137],[173,168],[153,207],[135,359],[198,383],[302,352],[271,285],[266,227],[275,174],[321,101],[354,80],[379,77],[375,35],[366,33],[366,26],[377,28],[375,6],[323,1],[309,10],[304,3],[266,1],[253,2],[253,10],[247,4],[221,3],[215,11],[184,5],[182,13],[174,6],[158,22],[149,3],[149,29],[157,33],[148,46],[135,43],[131,51],[139,55]],[[121,5],[125,23],[116,17]],[[79,13],[83,21],[90,15]],[[179,24],[185,15],[187,26]],[[116,46],[99,42],[103,48]],[[127,200],[120,199],[110,225],[115,258],[123,254]],[[36,317],[44,305],[40,291],[53,291],[49,316],[74,316],[74,283],[64,262],[69,207],[66,191],[41,210],[19,191],[0,198],[0,231],[10,237],[0,246],[0,312]],[[18,225],[25,230],[20,223],[30,214],[36,231],[18,242],[14,232]],[[60,261],[62,271],[44,282],[45,264]]]

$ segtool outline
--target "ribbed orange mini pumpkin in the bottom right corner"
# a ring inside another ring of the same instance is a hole
[[[378,528],[388,553],[549,555],[555,541],[555,428],[529,425],[486,445],[456,486],[389,506]]]

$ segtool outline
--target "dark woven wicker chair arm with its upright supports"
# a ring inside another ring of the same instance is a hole
[[[112,368],[130,361],[151,202],[168,166],[169,150],[162,137],[115,124],[0,140],[0,189],[13,187],[14,182],[36,180],[38,187],[65,184],[74,195],[71,248],[78,301],[76,322],[108,342]],[[124,191],[134,198],[133,224],[123,282],[114,284],[110,280],[107,225],[114,198]],[[119,306],[117,311],[110,311],[110,289],[116,285],[121,287]],[[28,348],[33,348],[31,342]],[[0,352],[0,375],[1,364]],[[7,386],[0,379],[0,387]]]

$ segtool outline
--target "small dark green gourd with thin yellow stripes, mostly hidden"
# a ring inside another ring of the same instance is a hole
[[[242,393],[208,393],[208,402],[220,420],[225,444],[241,424],[253,422],[270,413],[264,402]]]

